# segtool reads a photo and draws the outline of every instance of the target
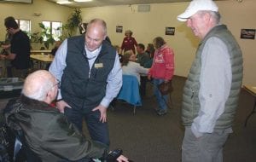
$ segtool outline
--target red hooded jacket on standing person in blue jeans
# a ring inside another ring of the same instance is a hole
[[[164,44],[154,52],[154,61],[148,75],[152,78],[171,80],[174,73],[173,50]]]

